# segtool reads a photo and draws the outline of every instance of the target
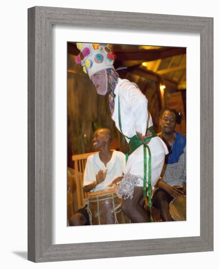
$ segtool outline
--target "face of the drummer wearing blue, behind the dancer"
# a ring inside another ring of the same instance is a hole
[[[172,134],[176,127],[176,115],[170,111],[164,111],[162,117],[159,119],[161,132],[165,134]]]

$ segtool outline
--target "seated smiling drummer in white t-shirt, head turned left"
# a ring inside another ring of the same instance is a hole
[[[94,148],[99,153],[87,158],[84,171],[83,186],[86,192],[97,192],[113,187],[125,173],[125,155],[119,151],[110,151],[111,131],[107,128],[98,129],[94,133]],[[70,225],[89,225],[86,205],[71,217]]]

